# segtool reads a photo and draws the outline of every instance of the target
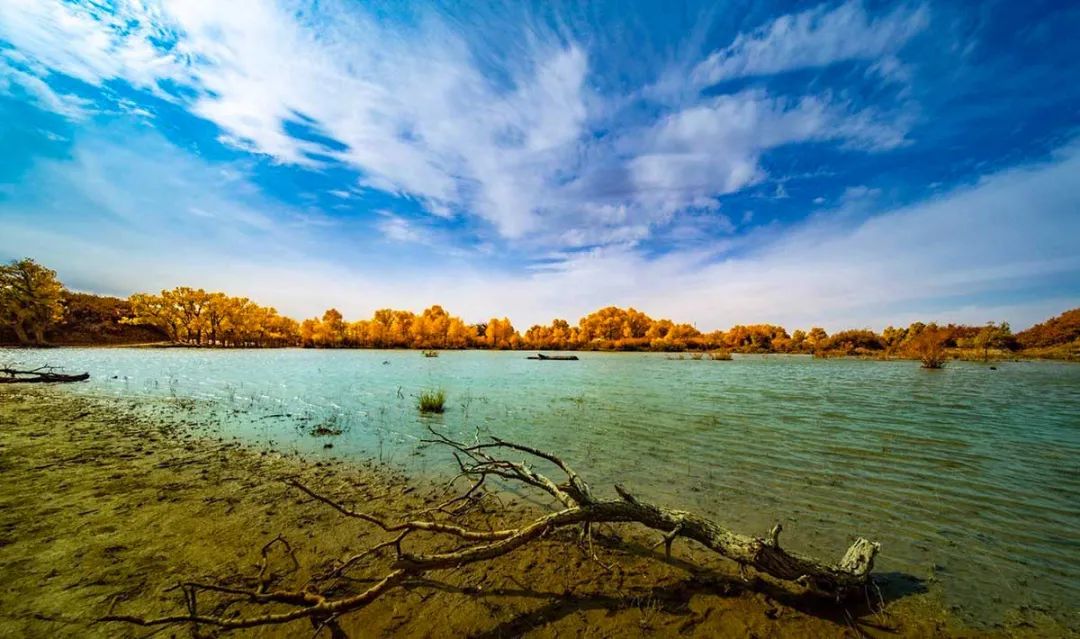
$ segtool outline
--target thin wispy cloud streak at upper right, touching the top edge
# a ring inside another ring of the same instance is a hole
[[[924,5],[904,5],[873,18],[859,0],[834,8],[820,4],[740,33],[731,44],[700,63],[692,78],[700,85],[708,85],[851,59],[886,58],[928,23],[929,10]],[[900,72],[895,60],[882,62],[880,68],[882,73]]]

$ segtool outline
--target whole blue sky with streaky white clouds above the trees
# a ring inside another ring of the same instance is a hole
[[[0,259],[297,318],[1080,305],[1074,2],[0,0]]]

